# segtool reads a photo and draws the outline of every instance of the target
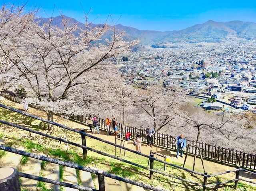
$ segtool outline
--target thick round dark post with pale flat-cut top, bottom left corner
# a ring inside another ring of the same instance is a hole
[[[20,182],[16,169],[0,168],[0,191],[20,191]]]

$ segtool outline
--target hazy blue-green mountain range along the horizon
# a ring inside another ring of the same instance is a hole
[[[74,18],[67,16],[56,16],[52,20],[52,24],[62,27],[62,17],[69,20],[69,24],[78,23],[80,28],[85,25],[78,22]],[[39,24],[48,23],[50,18],[38,18]],[[92,24],[92,27],[98,26]],[[125,39],[140,39],[141,44],[165,44],[165,43],[199,43],[199,42],[221,42],[226,39],[256,39],[256,23],[231,21],[231,22],[215,22],[209,20],[203,24],[197,24],[179,31],[159,32],[153,30],[138,30],[136,28],[116,25],[118,31],[125,31]],[[109,37],[107,33],[104,37]]]

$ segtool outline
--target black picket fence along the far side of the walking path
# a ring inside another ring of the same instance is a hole
[[[17,95],[11,91],[4,91],[2,94],[8,98],[11,98],[12,100],[21,102],[24,100],[24,96]],[[30,106],[39,108],[39,109],[44,109],[42,106],[38,106],[36,104],[30,104]],[[68,118],[72,120],[76,120],[78,122],[82,123],[87,123],[87,119],[89,117],[88,114],[84,115],[76,115],[76,114],[65,114],[65,113],[56,113],[59,115],[67,116]],[[106,121],[102,118],[98,118],[98,121],[100,123],[100,128],[103,130],[108,130],[106,126]],[[122,128],[122,124],[118,124],[118,129],[120,130]],[[111,128],[110,130],[112,133],[114,133],[114,130]],[[142,137],[142,142],[146,142],[146,133],[145,130],[140,129],[140,128],[135,128],[132,126],[124,126],[124,134],[126,132],[130,132],[131,138],[135,139],[137,134],[140,134]],[[176,145],[175,143],[175,137],[170,136],[167,134],[162,134],[162,133],[156,133],[154,135],[153,139],[153,144],[158,144],[158,146],[163,147],[163,148],[168,148],[170,150],[176,150]],[[193,140],[187,140],[187,144],[190,144],[191,146],[195,146],[196,142]],[[219,147],[216,145],[212,144],[206,144],[202,142],[198,142],[198,145],[201,149],[202,152],[202,157],[206,160],[214,160],[220,163],[228,163],[230,165],[240,165],[242,167],[246,167],[248,169],[256,169],[256,155],[255,154],[250,154],[246,153],[243,151],[238,151],[230,148],[224,148],[224,147]],[[189,148],[188,149],[188,154],[194,155],[196,152],[195,148]]]

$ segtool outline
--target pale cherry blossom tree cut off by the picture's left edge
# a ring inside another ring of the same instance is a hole
[[[0,10],[0,91],[9,89],[18,79],[22,79],[21,73],[14,68],[6,53],[10,53],[8,47],[20,43],[18,36],[26,33],[36,12],[23,14],[23,10],[24,5],[18,7],[3,5]],[[2,49],[5,49],[5,52]]]

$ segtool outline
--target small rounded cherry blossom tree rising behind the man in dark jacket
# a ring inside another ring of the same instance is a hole
[[[176,111],[186,102],[184,92],[176,86],[164,88],[161,85],[147,87],[140,92],[138,107],[148,116],[149,124],[156,132],[165,126],[171,126]]]

